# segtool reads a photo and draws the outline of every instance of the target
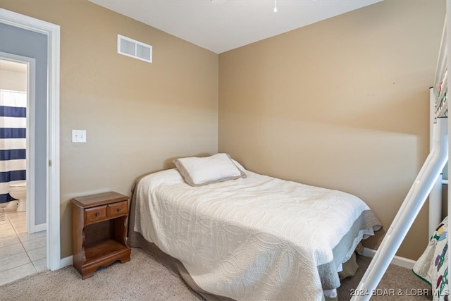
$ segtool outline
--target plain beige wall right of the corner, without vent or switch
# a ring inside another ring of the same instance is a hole
[[[385,0],[220,54],[219,151],[258,173],[351,192],[388,230],[428,154],[444,17],[445,1]],[[418,259],[427,216],[398,255]]]

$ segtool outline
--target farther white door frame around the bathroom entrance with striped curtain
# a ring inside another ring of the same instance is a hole
[[[36,60],[27,56],[18,56],[0,51],[0,59],[25,63],[27,65],[27,159],[26,176],[27,179],[27,233],[37,232],[35,228],[35,83],[36,83]],[[31,176],[32,175],[32,176]],[[45,228],[38,231],[47,230]],[[42,228],[42,227],[40,227]]]

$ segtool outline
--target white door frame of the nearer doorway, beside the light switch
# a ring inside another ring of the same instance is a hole
[[[0,23],[47,35],[47,269],[61,268],[59,192],[60,27],[0,8]]]

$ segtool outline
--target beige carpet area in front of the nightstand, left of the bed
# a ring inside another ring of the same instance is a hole
[[[43,271],[0,286],[0,300],[203,300],[140,249],[82,280],[73,266]]]

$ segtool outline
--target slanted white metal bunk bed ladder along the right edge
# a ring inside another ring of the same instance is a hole
[[[450,0],[447,0],[447,16],[451,16]],[[378,283],[381,281],[385,271],[387,271],[388,265],[393,260],[393,257],[395,257],[402,240],[407,235],[407,231],[409,231],[421,207],[426,202],[426,198],[436,185],[448,160],[448,144],[450,143],[448,141],[448,108],[447,99],[444,96],[447,93],[447,84],[449,82],[447,78],[449,65],[447,57],[449,56],[451,58],[451,46],[448,47],[447,41],[451,41],[451,38],[447,37],[447,25],[451,25],[449,18],[446,18],[445,26],[443,27],[442,42],[440,44],[438,64],[435,71],[434,92],[431,93],[434,104],[433,116],[435,116],[433,129],[431,130],[433,133],[431,152],[421,167],[418,176],[416,176],[412,188],[407,193],[381,245],[378,247],[376,255],[371,260],[362,280],[354,291],[352,301],[369,300],[373,295],[376,295]],[[450,188],[448,188],[448,191],[451,191]],[[450,213],[451,206],[448,206],[448,214]],[[451,223],[448,226],[448,233],[450,233]],[[448,240],[451,240],[450,235],[448,236]],[[449,271],[450,266],[451,260],[448,260]]]

